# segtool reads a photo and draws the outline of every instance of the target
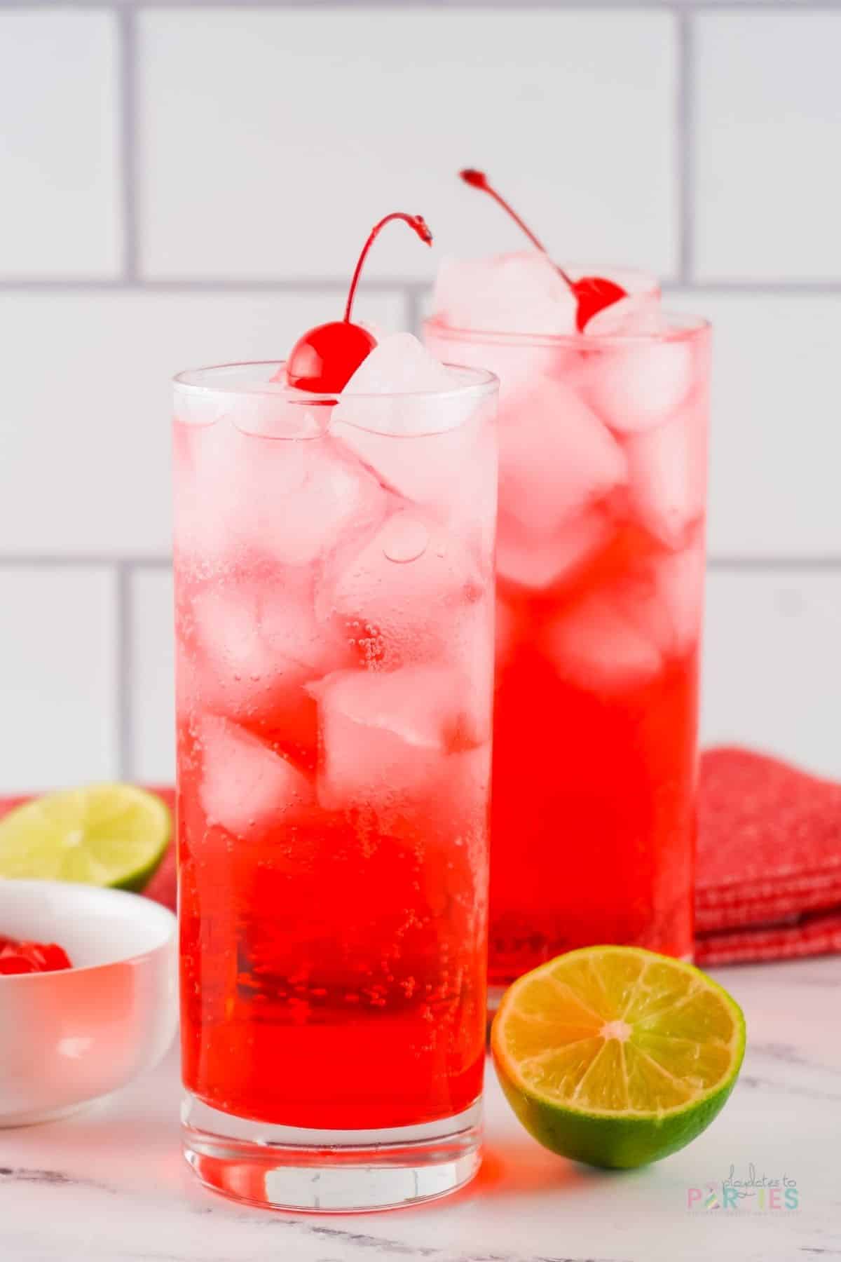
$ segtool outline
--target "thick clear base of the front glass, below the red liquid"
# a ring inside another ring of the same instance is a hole
[[[387,1131],[310,1131],[252,1122],[189,1092],[184,1157],[207,1188],[271,1209],[349,1214],[455,1191],[482,1162],[482,1100],[458,1117]]]

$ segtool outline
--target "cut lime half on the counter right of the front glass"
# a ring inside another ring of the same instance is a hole
[[[585,946],[518,978],[490,1047],[514,1113],[552,1152],[628,1169],[685,1147],[734,1088],[741,1008],[691,964]]]

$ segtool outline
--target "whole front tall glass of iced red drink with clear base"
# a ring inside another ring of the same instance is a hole
[[[479,1164],[497,382],[175,379],[183,1135],[257,1204]]]

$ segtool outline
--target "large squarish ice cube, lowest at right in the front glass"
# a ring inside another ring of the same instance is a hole
[[[310,685],[318,699],[318,800],[387,809],[434,790],[448,760],[489,736],[465,680],[446,666],[342,670]]]

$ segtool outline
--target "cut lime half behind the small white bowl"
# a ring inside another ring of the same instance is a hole
[[[0,820],[0,877],[142,890],[171,830],[166,805],[134,785],[45,794]]]

